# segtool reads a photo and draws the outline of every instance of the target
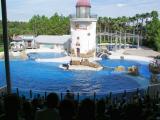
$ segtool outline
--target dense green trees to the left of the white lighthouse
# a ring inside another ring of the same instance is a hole
[[[0,20],[0,32],[2,32],[2,21]],[[55,13],[50,18],[34,15],[29,22],[8,21],[9,36],[21,34],[34,35],[62,35],[70,33],[69,17]]]

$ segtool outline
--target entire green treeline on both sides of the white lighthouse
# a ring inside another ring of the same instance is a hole
[[[143,45],[160,50],[160,22],[157,11],[151,13],[136,14],[133,17],[99,17],[97,32],[130,32],[143,36]],[[2,33],[2,21],[0,21],[0,33]],[[34,35],[63,35],[70,34],[69,17],[55,13],[50,18],[34,15],[29,22],[8,22],[9,36],[20,34]],[[107,42],[108,38],[102,38],[101,43]],[[114,41],[113,41],[114,42]]]

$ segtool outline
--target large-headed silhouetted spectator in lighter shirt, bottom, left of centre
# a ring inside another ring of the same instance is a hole
[[[58,95],[50,93],[47,96],[47,108],[37,111],[35,120],[60,120],[59,111],[57,110],[58,104]]]

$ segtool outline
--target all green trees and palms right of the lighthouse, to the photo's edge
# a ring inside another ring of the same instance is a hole
[[[133,17],[99,17],[97,32],[104,31],[112,33],[122,31],[141,35],[143,37],[143,45],[160,51],[160,21],[157,11],[136,14]],[[101,39],[99,42],[103,43],[104,40]]]

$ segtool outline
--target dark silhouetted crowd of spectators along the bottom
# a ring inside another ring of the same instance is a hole
[[[69,92],[63,100],[56,93],[33,100],[9,94],[0,97],[0,120],[160,120],[160,97],[136,93],[79,102]]]

